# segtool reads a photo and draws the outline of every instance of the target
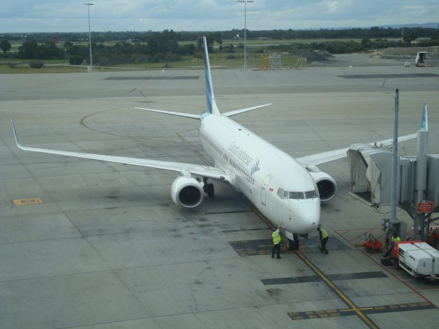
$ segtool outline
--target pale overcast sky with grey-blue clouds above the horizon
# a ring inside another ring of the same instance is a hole
[[[233,0],[91,1],[92,31],[219,31],[244,28],[244,3]],[[0,33],[88,32],[84,0],[5,0]],[[254,0],[247,28],[313,29],[429,23],[438,0]]]

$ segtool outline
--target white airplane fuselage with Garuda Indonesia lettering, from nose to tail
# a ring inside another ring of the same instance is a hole
[[[226,171],[230,184],[274,226],[283,222],[285,230],[298,234],[316,230],[320,199],[305,167],[228,117],[209,114],[200,122],[201,143],[215,167]]]

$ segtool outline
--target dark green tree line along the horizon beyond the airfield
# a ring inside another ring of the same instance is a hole
[[[97,32],[93,32],[97,34]],[[92,35],[93,62],[98,65],[130,64],[142,62],[174,62],[182,56],[201,56],[202,36],[207,36],[209,51],[213,51],[213,44],[219,44],[219,51],[233,53],[233,45],[223,46],[223,39],[241,36],[243,30],[233,29],[226,32],[174,32],[165,29],[163,32],[105,32],[102,38]],[[100,36],[101,34],[99,34]],[[402,38],[401,38],[402,35]],[[44,42],[37,42],[38,38],[27,36],[17,53],[10,53],[10,42],[3,38],[0,48],[3,56],[22,58],[26,60],[67,59],[71,64],[82,64],[88,61],[88,45],[75,43],[81,34],[59,34],[57,38],[64,40],[62,47],[54,42],[53,34],[34,34],[35,37],[46,37]],[[49,39],[50,36],[50,39]],[[83,35],[82,35],[83,36]],[[248,31],[248,39],[252,38],[283,38],[283,39],[324,39],[324,38],[359,38],[354,40],[327,40],[321,42],[292,42],[290,45],[270,46],[270,50],[282,50],[295,53],[301,49],[325,50],[329,53],[352,53],[380,49],[385,47],[410,47],[417,38],[425,38],[418,42],[418,46],[427,47],[439,45],[439,29],[432,28],[404,28],[370,27],[369,29],[319,29],[319,30],[272,30]],[[87,36],[88,37],[88,36]],[[388,40],[394,39],[394,40]],[[401,40],[395,40],[399,39]],[[84,38],[80,38],[84,41]],[[88,40],[88,38],[86,39]],[[86,41],[85,40],[85,41]],[[103,41],[116,42],[115,45],[104,45]],[[129,40],[129,41],[128,41]],[[178,42],[183,40],[195,41],[186,45]],[[259,49],[258,51],[268,50]]]

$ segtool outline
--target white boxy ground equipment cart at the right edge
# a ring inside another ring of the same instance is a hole
[[[398,265],[414,278],[439,280],[439,252],[425,242],[399,243]]]

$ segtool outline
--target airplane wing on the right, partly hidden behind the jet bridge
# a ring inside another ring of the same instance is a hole
[[[417,134],[410,134],[410,135],[401,136],[398,138],[398,141],[399,142],[410,141],[410,139],[414,139],[417,136],[418,136]],[[371,145],[371,146],[376,145],[378,147],[388,146],[388,145],[392,145],[392,144],[393,144],[393,138],[385,139],[384,141],[379,141],[376,143],[369,143],[369,145]],[[319,154],[312,154],[310,156],[302,156],[300,158],[296,158],[296,160],[300,164],[303,164],[305,167],[307,167],[309,165],[317,166],[318,164],[331,162],[334,160],[344,158],[346,156],[346,152],[348,151],[348,149],[349,149],[349,147],[345,147],[343,149],[335,149],[333,151],[327,151],[327,152],[323,152],[323,153],[319,153]]]

